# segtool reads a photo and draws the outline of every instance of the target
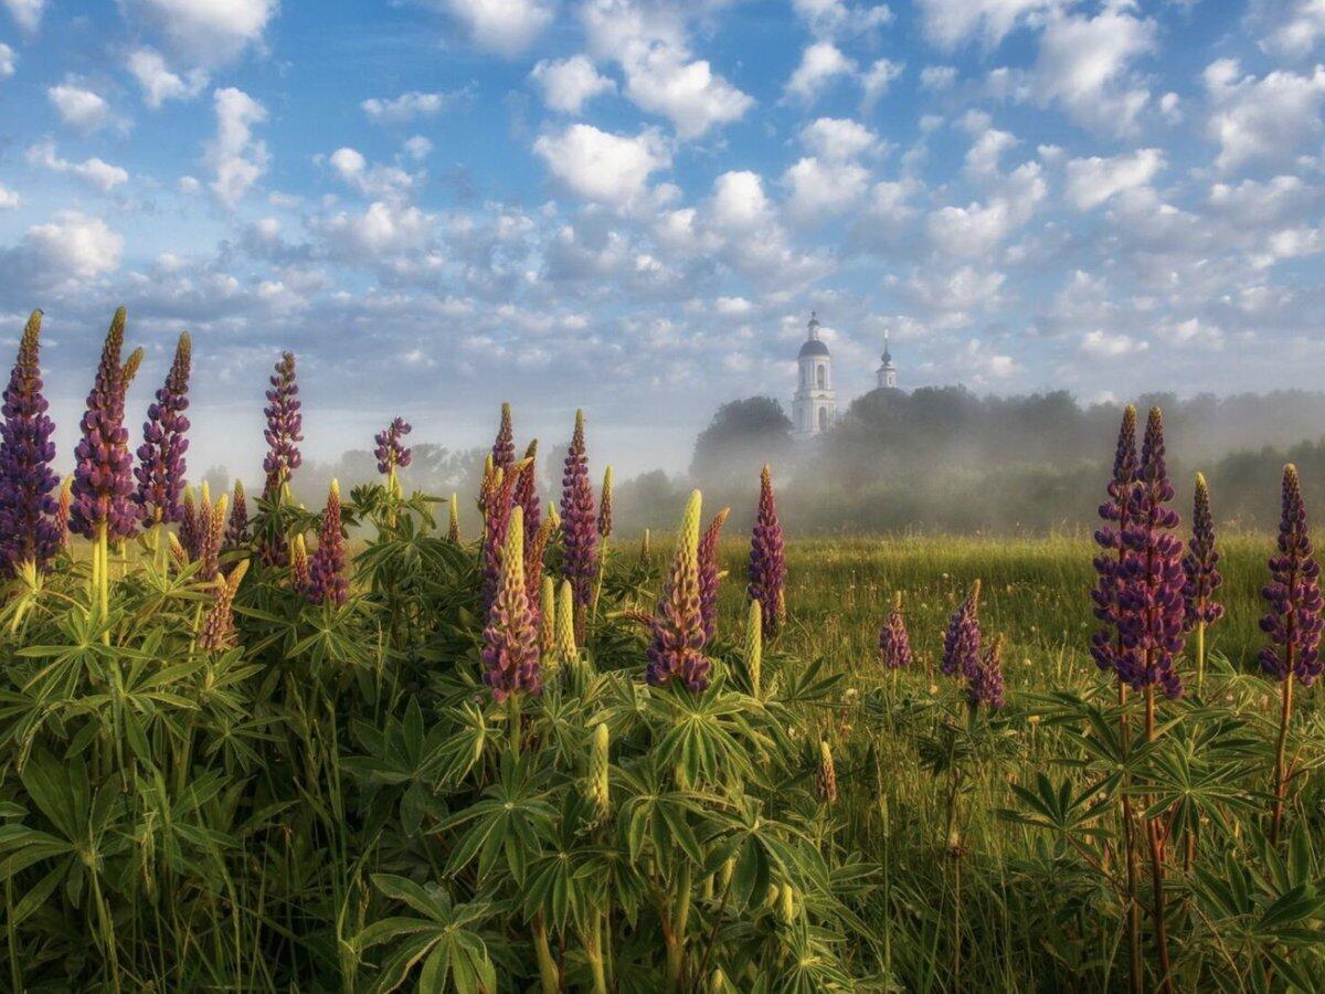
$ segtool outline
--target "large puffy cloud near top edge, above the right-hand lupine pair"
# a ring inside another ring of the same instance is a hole
[[[1154,49],[1155,23],[1122,5],[1106,5],[1096,17],[1055,13],[1040,40],[1035,97],[1057,101],[1086,127],[1129,134],[1150,99],[1142,85],[1129,80],[1129,68]]]

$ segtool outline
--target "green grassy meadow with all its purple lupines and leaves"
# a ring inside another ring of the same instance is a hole
[[[211,494],[187,337],[135,447],[125,329],[66,481],[40,314],[5,391],[9,989],[1318,989],[1292,468],[1219,534],[1129,410],[1093,534],[796,541],[766,469],[750,535],[694,492],[651,541],[504,406],[480,493],[409,493],[396,419],[306,509],[292,354]]]

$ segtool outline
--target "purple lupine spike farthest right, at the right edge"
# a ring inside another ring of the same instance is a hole
[[[1273,644],[1260,651],[1260,664],[1276,680],[1292,675],[1309,687],[1321,675],[1320,575],[1301,480],[1297,467],[1289,464],[1284,467],[1279,551],[1269,559],[1269,584],[1261,591],[1269,611],[1260,619],[1260,628]]]

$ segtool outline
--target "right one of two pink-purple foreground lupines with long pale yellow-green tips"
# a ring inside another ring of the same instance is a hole
[[[704,619],[700,616],[700,509],[696,490],[685,506],[672,575],[653,614],[647,679],[662,687],[677,677],[692,693],[709,687],[713,664],[704,655]]]

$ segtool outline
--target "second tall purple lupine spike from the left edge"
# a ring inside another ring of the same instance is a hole
[[[115,311],[97,368],[97,380],[87,394],[87,410],[80,425],[82,437],[74,449],[73,508],[69,529],[76,535],[95,539],[106,526],[106,538],[130,538],[138,522],[134,505],[132,456],[125,428],[125,370],[119,351],[125,345],[125,309]]]

